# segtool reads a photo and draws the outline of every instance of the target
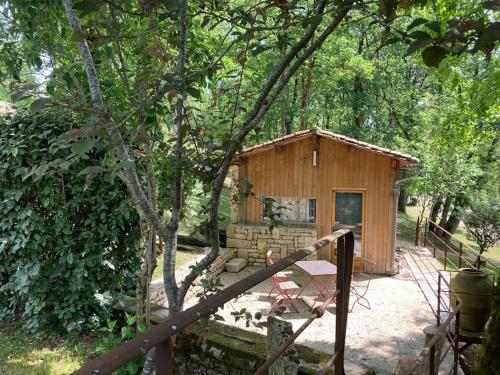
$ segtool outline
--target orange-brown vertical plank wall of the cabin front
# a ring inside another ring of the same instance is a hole
[[[257,197],[316,198],[318,238],[332,229],[332,191],[364,189],[365,253],[377,264],[376,272],[391,270],[393,184],[399,175],[399,162],[385,155],[320,138],[319,164],[312,165],[313,136],[275,146],[240,160],[240,176],[253,184]],[[240,207],[246,224],[262,222],[262,203],[249,197]],[[329,259],[323,249],[321,259]]]

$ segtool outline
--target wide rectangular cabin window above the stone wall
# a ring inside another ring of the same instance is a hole
[[[264,219],[283,223],[316,223],[316,199],[313,198],[264,198]]]

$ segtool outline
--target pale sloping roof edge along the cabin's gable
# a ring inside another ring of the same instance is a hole
[[[275,145],[278,144],[288,144],[291,142],[298,141],[300,139],[307,138],[312,135],[318,135],[320,137],[332,139],[334,141],[341,142],[343,144],[347,144],[356,148],[364,149],[367,151],[375,152],[381,155],[393,157],[396,159],[399,159],[403,161],[404,165],[411,165],[411,164],[418,164],[419,160],[418,158],[404,154],[400,151],[395,151],[395,150],[390,150],[388,148],[376,146],[370,143],[366,143],[363,141],[358,141],[357,139],[354,138],[349,138],[344,135],[340,134],[335,134],[326,130],[321,130],[321,129],[309,129],[309,130],[302,130],[293,134],[285,135],[284,137],[276,138],[271,141],[267,141],[252,147],[245,148],[241,151],[240,155],[253,155],[262,151],[269,150],[273,148]]]

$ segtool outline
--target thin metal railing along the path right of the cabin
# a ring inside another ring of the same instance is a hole
[[[453,245],[451,240],[458,243],[458,248]],[[427,245],[432,247],[434,258],[436,258],[436,255],[443,258],[445,270],[448,266],[452,266],[454,269],[462,267],[480,269],[483,262],[489,267],[497,267],[472,247],[460,241],[456,236],[430,219],[426,219],[425,222],[423,245],[424,247]]]

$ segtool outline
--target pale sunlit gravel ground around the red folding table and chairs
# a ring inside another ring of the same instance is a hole
[[[255,272],[258,267],[246,267],[237,274],[221,274],[221,282],[228,286]],[[290,278],[305,285],[306,275],[293,269]],[[267,294],[271,280],[254,287],[248,294],[227,304],[220,313],[226,324],[245,328],[243,321],[234,321],[231,312],[246,308],[254,315],[261,312],[265,321],[269,314],[270,299]],[[305,290],[306,296],[316,295],[315,289]],[[421,294],[417,283],[408,270],[402,269],[399,276],[375,276],[367,293],[371,309],[356,305],[349,314],[346,337],[347,374],[392,374],[401,356],[414,356],[423,346],[424,327],[434,323],[434,316]],[[292,323],[294,330],[309,317],[304,302],[298,301],[300,312],[286,312],[283,319]],[[256,322],[256,321],[255,321]],[[246,328],[265,334],[265,328]],[[334,352],[335,305],[331,305],[323,318],[314,321],[297,339],[298,343],[327,353]]]

